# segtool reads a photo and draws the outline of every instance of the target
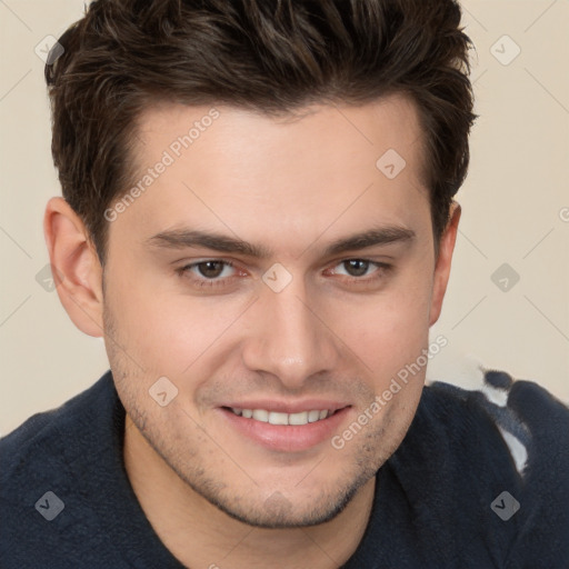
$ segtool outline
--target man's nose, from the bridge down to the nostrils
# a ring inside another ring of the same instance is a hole
[[[276,376],[293,390],[336,367],[339,340],[326,322],[322,302],[307,295],[301,279],[280,292],[263,286],[248,320],[242,350],[248,369]]]

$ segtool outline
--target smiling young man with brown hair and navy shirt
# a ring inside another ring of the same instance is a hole
[[[569,567],[569,411],[425,387],[475,120],[452,0],[97,0],[46,77],[110,371],[0,442],[6,567]]]

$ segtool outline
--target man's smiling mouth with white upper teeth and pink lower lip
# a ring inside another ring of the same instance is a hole
[[[318,407],[318,406],[317,406]],[[296,412],[263,408],[219,407],[231,432],[280,452],[300,452],[330,440],[351,406]]]

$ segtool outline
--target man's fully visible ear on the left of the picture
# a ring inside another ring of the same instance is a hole
[[[63,198],[49,200],[43,233],[59,300],[69,318],[82,332],[102,337],[102,267],[83,222]]]

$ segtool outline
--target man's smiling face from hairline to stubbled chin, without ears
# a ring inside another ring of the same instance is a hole
[[[128,420],[189,492],[264,527],[333,518],[395,451],[425,367],[383,392],[440,308],[413,106],[305,111],[147,111],[140,191],[107,213]],[[389,149],[405,168],[377,166]]]

